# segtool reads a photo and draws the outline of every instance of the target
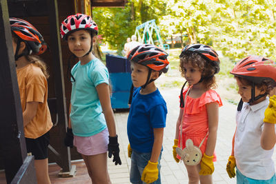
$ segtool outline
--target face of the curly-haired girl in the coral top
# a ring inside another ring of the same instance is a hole
[[[189,85],[196,84],[201,79],[201,72],[198,67],[194,67],[191,63],[184,63],[184,76]]]

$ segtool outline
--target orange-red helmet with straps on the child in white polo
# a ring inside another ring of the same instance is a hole
[[[256,55],[248,56],[235,65],[230,72],[235,76],[242,77],[252,82],[251,99],[248,103],[257,101],[258,99],[266,96],[267,93],[255,96],[255,84],[260,84],[264,79],[273,81],[273,87],[276,84],[276,64],[270,59],[259,57]],[[242,110],[242,99],[238,105],[238,111]]]

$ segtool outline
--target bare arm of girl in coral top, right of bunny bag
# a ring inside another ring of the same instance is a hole
[[[208,140],[205,154],[213,156],[217,141],[217,126],[219,123],[219,104],[217,102],[206,104],[208,113]]]

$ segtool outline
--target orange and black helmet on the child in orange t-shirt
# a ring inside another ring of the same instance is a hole
[[[43,40],[42,35],[28,21],[25,21],[23,19],[10,18],[10,28],[19,39],[17,42],[17,52],[19,50],[19,44],[21,43],[21,41],[25,42],[26,47],[28,48],[28,53],[26,52],[20,54],[20,56],[17,56],[18,53],[16,52],[16,59],[23,55],[28,55],[32,53],[37,55],[42,54],[47,50],[47,44]]]

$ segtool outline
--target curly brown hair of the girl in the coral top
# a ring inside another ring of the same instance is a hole
[[[193,67],[199,68],[201,72],[201,77],[203,78],[203,85],[205,88],[217,88],[217,83],[215,80],[215,68],[210,62],[206,61],[203,57],[195,52],[187,51],[180,58],[179,63],[179,71],[181,72],[181,76],[185,77],[184,64],[190,63]]]

